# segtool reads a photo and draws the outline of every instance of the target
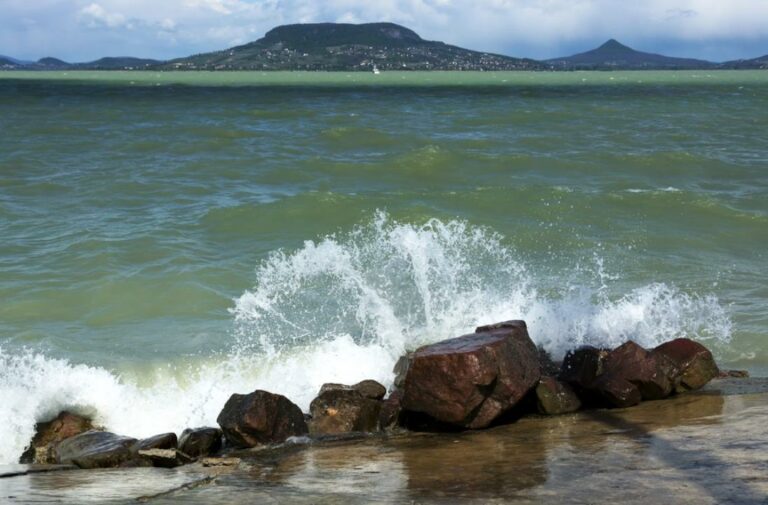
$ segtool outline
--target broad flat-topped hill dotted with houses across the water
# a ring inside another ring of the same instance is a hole
[[[162,65],[178,70],[532,70],[534,60],[422,39],[394,23],[284,25],[224,51]]]

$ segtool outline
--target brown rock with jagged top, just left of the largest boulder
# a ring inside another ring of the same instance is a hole
[[[381,384],[370,382],[384,389]],[[353,389],[354,387],[342,384],[323,385],[320,394],[309,406],[312,415],[309,422],[310,434],[378,431],[381,401],[363,396],[358,389]],[[374,385],[367,385],[363,389],[367,389],[368,394],[379,396],[380,391]]]

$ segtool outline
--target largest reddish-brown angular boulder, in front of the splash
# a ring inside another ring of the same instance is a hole
[[[403,409],[463,428],[487,427],[537,384],[538,357],[523,321],[421,347],[405,374]]]

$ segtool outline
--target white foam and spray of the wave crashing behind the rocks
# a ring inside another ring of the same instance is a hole
[[[0,347],[0,464],[15,462],[36,421],[69,409],[136,437],[215,425],[232,393],[287,395],[307,409],[324,382],[393,380],[407,350],[524,319],[555,357],[590,343],[644,346],[679,336],[727,342],[731,321],[713,295],[651,282],[618,297],[599,257],[591,279],[542,289],[491,230],[463,221],[399,223],[378,213],[346,233],[275,251],[231,308],[235,345],[222,356],[153,370],[114,371]],[[73,358],[75,359],[75,358]]]

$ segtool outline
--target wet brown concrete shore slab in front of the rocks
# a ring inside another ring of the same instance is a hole
[[[630,409],[286,445],[232,466],[0,467],[0,501],[764,504],[767,419],[768,379],[719,379]]]

